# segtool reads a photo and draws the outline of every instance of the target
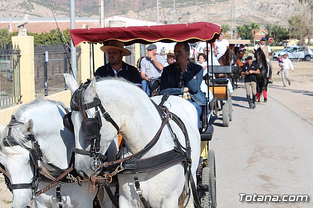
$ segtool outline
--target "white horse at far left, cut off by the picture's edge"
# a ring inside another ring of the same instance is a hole
[[[25,140],[29,134],[33,134],[40,145],[45,163],[53,164],[66,169],[70,163],[75,138],[63,126],[63,116],[66,114],[64,104],[48,100],[36,100],[25,104],[16,112],[16,120],[24,124],[13,125],[11,137],[20,145],[5,146],[4,140],[8,135],[8,127],[5,127],[0,137],[0,163],[4,166],[6,175],[11,184],[27,184],[32,182],[34,169],[30,163],[29,151],[22,146],[32,148],[32,143]],[[10,140],[11,141],[11,140]],[[43,170],[45,167],[43,167]],[[48,170],[49,172],[49,170]],[[54,176],[56,178],[56,176]],[[41,182],[39,189],[48,183]],[[65,208],[86,208],[92,206],[96,193],[88,192],[88,182],[83,182],[82,187],[76,183],[62,184],[62,200]],[[32,201],[32,189],[13,189],[14,208],[59,208],[56,201],[56,188],[37,197],[37,203]]]

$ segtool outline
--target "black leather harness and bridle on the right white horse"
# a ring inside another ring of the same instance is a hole
[[[104,162],[104,160],[101,159],[100,157],[104,156],[103,158],[105,159],[106,157],[105,155],[102,155],[99,152],[100,140],[101,140],[100,129],[102,127],[101,117],[103,116],[107,122],[110,122],[117,130],[117,133],[119,132],[119,127],[118,125],[116,125],[116,123],[114,122],[110,114],[105,110],[105,108],[101,104],[100,99],[98,99],[97,97],[94,97],[92,102],[84,104],[85,106],[84,109],[81,109],[82,104],[79,105],[79,102],[83,100],[82,96],[84,95],[84,91],[86,90],[86,88],[89,86],[89,83],[90,81],[88,81],[85,84],[81,84],[79,88],[73,93],[70,106],[72,110],[79,111],[82,114],[86,114],[85,111],[90,108],[93,108],[93,107],[95,108],[95,112],[96,112],[95,117],[85,119],[85,121],[83,119],[82,121],[83,134],[85,135],[87,140],[90,140],[90,143],[91,143],[90,150],[88,151],[88,150],[74,148],[74,152],[76,152],[77,154],[89,155],[90,157],[94,158],[94,161],[91,164],[91,169],[94,171],[94,176],[96,175],[96,171],[99,170],[100,168],[103,168],[101,173],[106,170],[112,170],[112,169],[117,170],[120,167],[120,170],[118,170],[119,174],[132,174],[132,175],[137,174],[138,175],[138,173],[150,172],[153,170],[157,170],[160,168],[177,164],[179,162],[183,162],[185,174],[186,172],[188,172],[187,173],[188,181],[191,182],[190,184],[192,187],[192,193],[195,198],[195,203],[198,207],[201,208],[201,204],[197,196],[196,185],[194,183],[194,180],[191,174],[192,161],[191,161],[191,147],[190,147],[189,137],[188,137],[187,129],[185,125],[183,124],[183,122],[179,119],[179,117],[175,115],[174,113],[169,112],[167,107],[162,108],[151,100],[151,102],[155,105],[156,110],[158,111],[162,120],[162,124],[160,128],[158,129],[154,138],[143,149],[134,153],[133,155],[130,155],[123,159],[116,159],[114,161]],[[169,94],[166,94],[165,96],[163,96],[160,105],[164,104],[164,102],[167,100],[168,97],[169,97]],[[100,115],[99,111],[101,111],[102,116]],[[66,119],[66,121],[64,121],[64,124],[67,124],[66,126],[67,128],[73,129],[73,124],[68,119],[70,116],[71,115],[69,114],[68,116],[64,117]],[[176,134],[172,130],[171,125],[169,124],[169,120],[173,120],[183,132],[184,137],[185,137],[186,147],[183,147],[180,144],[179,139],[177,138]],[[85,132],[84,132],[84,125],[86,125],[86,123],[87,125],[88,123],[94,124],[95,126],[94,125],[92,126],[95,127],[96,129],[94,130],[94,129],[85,127]],[[158,154],[156,156],[142,159],[142,156],[145,153],[147,153],[153,146],[156,145],[156,142],[158,141],[160,134],[165,125],[168,126],[170,133],[172,135],[172,138],[175,144],[174,148],[170,151]],[[86,129],[90,132],[86,131]],[[136,192],[139,195],[140,200],[142,204],[144,205],[144,207],[150,208],[147,201],[142,196],[142,190],[140,188],[137,175],[135,176],[133,175]],[[190,190],[189,183],[187,184],[188,184],[188,190]],[[188,201],[189,201],[189,197],[190,197],[190,192],[188,193]],[[112,202],[114,203],[114,205],[116,204],[116,201],[114,202],[114,200],[112,200]]]

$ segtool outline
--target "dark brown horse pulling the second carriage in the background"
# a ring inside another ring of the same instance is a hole
[[[233,88],[237,88],[237,80],[240,77],[239,74],[239,68],[237,67],[237,56],[235,55],[234,51],[228,47],[227,50],[225,51],[224,55],[221,56],[221,58],[218,59],[219,63],[221,66],[225,65],[231,65],[231,74],[230,80],[231,80],[231,85]],[[236,84],[235,84],[236,82]]]

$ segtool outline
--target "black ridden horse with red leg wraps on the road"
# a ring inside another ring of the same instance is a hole
[[[260,64],[260,74],[257,75],[257,101],[260,104],[260,96],[263,92],[264,102],[268,101],[268,63],[266,62],[266,57],[261,48],[258,48],[254,53],[255,62]]]

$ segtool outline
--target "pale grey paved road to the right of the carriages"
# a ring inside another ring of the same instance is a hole
[[[213,122],[219,208],[313,207],[313,123],[278,102],[290,96],[285,89],[269,89],[269,102],[254,110],[246,108],[245,89],[236,89],[230,126],[221,126],[222,116]],[[240,202],[240,193],[307,194],[309,202]]]

